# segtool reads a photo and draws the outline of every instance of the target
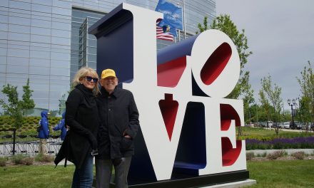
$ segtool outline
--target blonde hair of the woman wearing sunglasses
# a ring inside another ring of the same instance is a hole
[[[99,77],[98,74],[96,73],[95,70],[93,70],[93,68],[88,68],[88,67],[81,67],[75,74],[74,78],[73,78],[73,88],[78,85],[81,84],[81,80],[82,78],[84,78],[86,75],[91,74],[93,77],[98,78],[99,81]],[[97,83],[95,83],[95,87],[93,88],[93,94],[94,95],[98,95],[99,93],[99,88],[98,88],[98,81]]]

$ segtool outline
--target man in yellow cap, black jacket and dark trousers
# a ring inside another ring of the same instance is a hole
[[[116,87],[118,78],[112,69],[101,73],[101,95],[97,106],[101,124],[96,155],[96,187],[108,188],[112,167],[116,188],[128,187],[128,169],[134,154],[133,140],[138,132],[138,110],[129,90]]]

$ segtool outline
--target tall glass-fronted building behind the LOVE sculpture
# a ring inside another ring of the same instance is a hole
[[[216,16],[215,0],[177,0],[183,6],[186,35]],[[158,0],[1,0],[0,89],[16,85],[19,97],[29,78],[36,108],[59,110],[78,68],[96,68],[96,38],[87,30],[121,3],[155,10]],[[183,39],[183,31],[180,37]],[[176,38],[176,41],[178,41]],[[172,42],[157,40],[158,48]],[[5,98],[0,93],[0,98]],[[0,110],[1,111],[1,110]]]

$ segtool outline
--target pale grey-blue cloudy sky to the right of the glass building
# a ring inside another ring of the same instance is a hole
[[[260,79],[270,75],[289,108],[287,100],[301,96],[296,78],[308,61],[314,64],[314,1],[216,0],[216,11],[217,16],[230,15],[238,30],[245,30],[253,52],[245,71],[250,71],[255,103]]]

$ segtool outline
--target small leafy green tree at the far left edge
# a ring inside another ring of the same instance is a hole
[[[19,101],[19,93],[16,90],[17,86],[4,85],[1,92],[8,97],[8,103],[5,103],[4,100],[0,99],[0,105],[4,109],[4,115],[9,115],[14,119],[14,127],[18,129],[21,127],[23,122],[21,102]]]

